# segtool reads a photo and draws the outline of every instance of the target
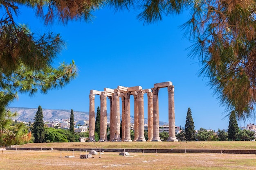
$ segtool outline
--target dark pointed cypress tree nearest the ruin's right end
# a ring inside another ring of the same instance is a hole
[[[190,108],[186,113],[186,124],[185,124],[184,136],[186,138],[186,141],[195,141],[195,126],[194,126],[194,121],[192,118]]]

